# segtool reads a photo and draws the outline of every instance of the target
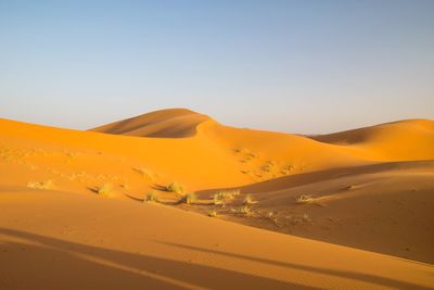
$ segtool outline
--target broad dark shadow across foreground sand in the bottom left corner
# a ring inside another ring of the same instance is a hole
[[[319,289],[13,229],[0,228],[0,235],[27,241],[0,243],[4,289]]]

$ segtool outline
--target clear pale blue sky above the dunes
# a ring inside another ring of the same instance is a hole
[[[306,134],[434,118],[434,1],[0,0],[0,117],[174,106]]]

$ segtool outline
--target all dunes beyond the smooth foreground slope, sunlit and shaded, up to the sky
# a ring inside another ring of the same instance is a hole
[[[0,119],[0,186],[93,197],[108,185],[104,196],[117,201],[138,203],[155,193],[177,204],[182,194],[165,188],[177,181],[184,193],[207,199],[207,205],[187,210],[208,214],[215,207],[219,218],[255,227],[427,263],[434,259],[432,121],[308,138],[229,127],[176,109],[100,128]],[[235,203],[209,205],[226,188],[241,189]],[[254,217],[239,214],[246,194],[258,201]],[[321,205],[297,204],[302,194],[320,198]],[[297,224],[299,217],[308,223]],[[403,232],[409,235],[400,239]]]

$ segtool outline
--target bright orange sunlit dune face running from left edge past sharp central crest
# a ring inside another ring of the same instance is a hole
[[[350,150],[340,150],[308,138],[235,129],[210,118],[195,126],[195,135],[189,138],[131,137],[8,119],[0,119],[0,123],[4,150],[31,151],[27,155],[38,155],[33,151],[46,150],[43,154],[55,155],[50,159],[52,166],[38,156],[30,157],[34,161],[26,164],[8,157],[15,165],[31,167],[39,164],[40,168],[48,171],[52,167],[58,172],[62,172],[62,168],[68,168],[69,172],[80,168],[93,175],[110,173],[125,177],[120,178],[124,180],[138,179],[133,169],[144,168],[155,177],[153,182],[177,180],[189,190],[247,185],[288,174],[367,162],[353,156]],[[168,131],[169,128],[164,130]],[[78,154],[71,160],[71,164],[66,164],[72,152]],[[21,167],[16,167],[20,174],[14,174],[10,168],[10,177],[25,182],[23,179],[28,179],[34,173],[26,175]],[[269,169],[265,172],[264,167]]]

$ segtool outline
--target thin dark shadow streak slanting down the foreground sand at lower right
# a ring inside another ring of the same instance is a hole
[[[372,283],[381,285],[381,286],[387,286],[387,287],[392,286],[392,287],[396,287],[397,289],[414,289],[414,290],[416,289],[425,289],[425,290],[431,289],[431,288],[426,288],[426,287],[423,287],[420,285],[399,281],[399,280],[386,278],[386,277],[375,276],[375,275],[354,273],[354,272],[342,272],[342,270],[327,269],[327,268],[318,268],[318,267],[294,264],[294,263],[289,263],[289,262],[273,261],[273,260],[247,256],[247,255],[242,255],[242,254],[237,254],[237,253],[227,253],[227,252],[222,252],[222,251],[218,251],[218,250],[204,249],[204,248],[200,248],[200,247],[193,247],[193,245],[187,245],[187,244],[180,244],[180,243],[162,242],[162,241],[159,241],[159,242],[163,244],[171,245],[171,247],[194,250],[194,251],[200,251],[200,252],[205,252],[205,253],[219,254],[219,255],[225,255],[225,256],[231,256],[231,257],[237,257],[237,259],[243,259],[243,260],[248,260],[248,261],[253,261],[253,262],[270,264],[270,265],[275,265],[275,266],[302,269],[302,270],[314,272],[314,273],[319,273],[319,274],[327,274],[327,275],[342,277],[342,278],[350,278],[350,279],[372,282]]]

